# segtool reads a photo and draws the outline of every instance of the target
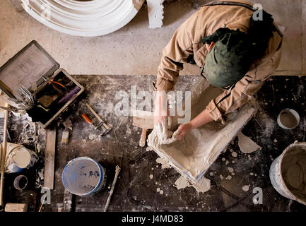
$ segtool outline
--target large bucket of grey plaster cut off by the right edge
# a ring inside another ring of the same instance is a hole
[[[290,144],[283,153],[272,162],[269,175],[272,186],[279,194],[306,205],[306,194],[303,195],[297,193],[298,190],[295,189],[294,186],[291,186],[292,182],[289,182],[288,179],[286,179],[290,170],[289,168],[287,169],[286,165],[288,165],[288,163],[286,162],[289,160],[294,161],[294,157],[299,157],[299,155],[304,155],[304,153],[306,154],[306,142],[295,142]],[[290,172],[294,172],[292,171],[292,167]],[[297,176],[297,174],[290,175],[292,177]],[[304,178],[305,177],[306,176],[304,175]]]

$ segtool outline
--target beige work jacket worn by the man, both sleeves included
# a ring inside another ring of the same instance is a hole
[[[225,27],[233,30],[239,28],[241,31],[247,32],[254,11],[245,6],[233,4],[242,3],[251,7],[253,4],[242,0],[219,2],[232,5],[202,6],[199,11],[196,11],[177,28],[172,39],[163,49],[163,57],[158,66],[157,90],[165,90],[166,92],[173,90],[179,72],[183,69],[184,63],[187,63],[189,55],[194,55],[197,66],[204,66],[208,44],[203,44],[201,38],[212,35],[218,28]],[[254,93],[261,88],[264,81],[276,70],[281,60],[282,37],[279,30],[273,32],[266,54],[252,63],[251,68],[238,81],[231,95],[217,106],[216,103],[230,92],[230,90],[225,90],[223,94],[209,102],[206,109],[214,120],[223,119],[223,115],[233,112],[250,100]]]

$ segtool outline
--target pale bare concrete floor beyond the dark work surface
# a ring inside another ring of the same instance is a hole
[[[199,0],[199,5],[210,0]],[[148,12],[141,8],[124,28],[101,37],[73,37],[45,27],[9,0],[0,2],[0,65],[31,40],[47,49],[71,74],[154,75],[163,47],[176,28],[196,11],[194,1],[165,2],[163,28],[148,28]],[[281,65],[275,74],[306,74],[306,0],[257,0],[285,30]],[[182,75],[199,74],[186,66]]]

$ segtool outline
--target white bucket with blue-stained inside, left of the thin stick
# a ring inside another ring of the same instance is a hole
[[[77,157],[66,165],[62,174],[64,187],[77,196],[89,196],[105,187],[105,169],[90,157]]]

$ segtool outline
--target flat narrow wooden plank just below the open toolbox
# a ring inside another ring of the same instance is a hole
[[[44,188],[54,189],[54,160],[57,142],[57,130],[46,129],[46,149],[45,149],[45,180]]]

